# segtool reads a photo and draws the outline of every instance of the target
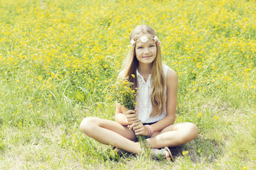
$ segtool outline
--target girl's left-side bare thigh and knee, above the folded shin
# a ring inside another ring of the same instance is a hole
[[[127,126],[120,125],[120,123],[116,121],[100,119],[97,117],[86,117],[81,122],[80,127],[81,130],[85,132],[85,134],[87,131],[95,132],[95,130],[98,130],[97,127],[103,127],[107,130],[116,132],[117,134],[120,134],[125,138],[128,138],[129,140],[135,140],[134,132],[132,132],[132,130],[129,130]]]

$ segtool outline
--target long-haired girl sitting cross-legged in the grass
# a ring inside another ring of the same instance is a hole
[[[148,25],[137,26],[130,34],[131,49],[118,77],[131,77],[138,89],[135,110],[124,110],[116,104],[116,121],[87,117],[81,130],[100,143],[113,145],[118,151],[140,154],[142,148],[136,135],[143,135],[151,154],[170,160],[168,147],[188,143],[198,136],[193,123],[177,123],[178,77],[162,64],[160,40]]]

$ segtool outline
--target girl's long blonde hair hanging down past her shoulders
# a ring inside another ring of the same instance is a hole
[[[138,40],[141,36],[148,35],[156,36],[156,32],[148,25],[138,25],[130,34],[131,39]],[[136,75],[136,70],[138,69],[138,60],[135,53],[135,45],[132,45],[125,62],[122,64],[122,77],[131,77],[131,74]],[[165,93],[165,77],[162,71],[162,54],[160,45],[156,42],[156,59],[153,61],[153,67],[151,72],[151,105],[152,112],[150,117],[155,117],[161,115],[162,111],[166,110],[166,93]],[[137,87],[137,78],[131,78],[131,82],[134,83],[133,88]]]

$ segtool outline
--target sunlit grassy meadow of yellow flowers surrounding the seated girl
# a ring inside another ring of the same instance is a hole
[[[253,0],[1,0],[0,169],[253,169],[256,151]],[[118,157],[79,130],[114,120],[129,33],[158,33],[178,74],[175,123],[198,125],[174,162]]]

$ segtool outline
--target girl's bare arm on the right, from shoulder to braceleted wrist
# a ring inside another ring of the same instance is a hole
[[[172,125],[175,121],[175,113],[177,106],[178,95],[178,76],[173,69],[168,69],[167,72],[167,116],[161,119],[157,123],[150,125],[153,132],[159,132],[164,127]]]

